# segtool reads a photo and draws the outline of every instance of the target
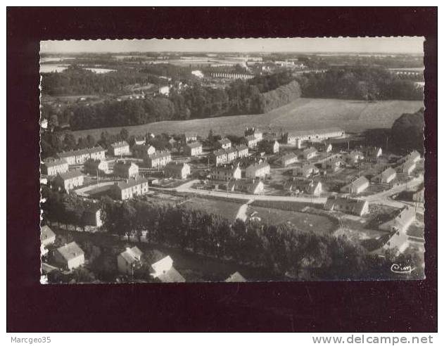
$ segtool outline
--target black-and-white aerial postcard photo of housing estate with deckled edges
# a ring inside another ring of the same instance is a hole
[[[42,41],[41,282],[424,278],[422,45]]]

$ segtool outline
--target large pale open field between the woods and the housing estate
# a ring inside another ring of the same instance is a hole
[[[231,117],[210,117],[205,119],[153,122],[150,124],[125,127],[129,134],[146,132],[180,134],[196,132],[208,136],[210,129],[215,134],[243,134],[247,126],[292,131],[343,127],[346,131],[391,127],[402,113],[413,113],[423,107],[422,101],[350,101],[325,98],[299,98],[288,105],[259,115],[234,115]],[[93,135],[100,138],[103,131],[111,134],[120,132],[121,127],[87,129],[75,131],[77,136]]]

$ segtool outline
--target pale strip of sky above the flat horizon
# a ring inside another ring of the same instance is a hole
[[[298,52],[423,53],[423,37],[334,37],[278,39],[137,39],[42,41],[42,53]]]

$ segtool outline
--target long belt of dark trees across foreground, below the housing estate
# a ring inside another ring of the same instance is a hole
[[[76,196],[45,189],[44,219],[58,224],[85,224],[84,201]],[[291,224],[278,226],[262,222],[235,222],[217,214],[207,214],[182,206],[156,205],[143,200],[115,203],[101,200],[103,226],[118,236],[142,236],[148,243],[163,244],[183,251],[258,267],[278,276],[298,280],[341,280],[389,278],[391,263],[412,264],[420,268],[414,253],[386,259],[370,255],[345,236],[321,235],[301,231]],[[412,275],[420,275],[413,272]]]

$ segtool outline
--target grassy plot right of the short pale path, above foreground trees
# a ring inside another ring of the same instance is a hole
[[[308,214],[305,212],[293,212],[289,210],[271,209],[267,207],[248,207],[248,214],[255,214],[262,222],[267,224],[284,224],[291,222],[298,229],[324,233],[333,231],[335,225],[328,217],[322,215]]]

